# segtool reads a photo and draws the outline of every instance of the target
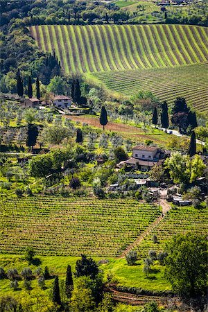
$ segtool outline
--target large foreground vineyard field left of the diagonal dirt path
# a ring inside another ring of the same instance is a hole
[[[159,212],[137,200],[10,199],[0,204],[0,250],[42,255],[119,255]]]

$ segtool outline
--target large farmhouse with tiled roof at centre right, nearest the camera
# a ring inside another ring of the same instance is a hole
[[[132,157],[123,162],[119,162],[117,167],[122,168],[126,165],[131,166],[133,169],[149,171],[155,164],[163,162],[168,153],[168,151],[163,151],[156,146],[138,145],[132,148]]]

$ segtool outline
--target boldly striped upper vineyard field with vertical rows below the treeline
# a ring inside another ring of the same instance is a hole
[[[205,27],[184,25],[43,25],[31,35],[55,51],[66,73],[174,67],[207,61]]]

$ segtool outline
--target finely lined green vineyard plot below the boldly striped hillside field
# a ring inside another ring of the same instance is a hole
[[[208,63],[168,69],[137,69],[135,71],[108,71],[94,73],[108,89],[125,96],[139,91],[153,92],[160,100],[173,103],[183,96],[199,111],[208,109]]]

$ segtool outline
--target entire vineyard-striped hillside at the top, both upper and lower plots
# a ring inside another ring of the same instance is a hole
[[[207,110],[207,29],[184,25],[31,26],[66,73],[85,73],[129,96],[150,90],[161,100],[184,96]],[[189,66],[188,66],[189,65]]]

